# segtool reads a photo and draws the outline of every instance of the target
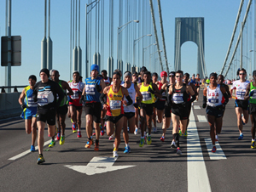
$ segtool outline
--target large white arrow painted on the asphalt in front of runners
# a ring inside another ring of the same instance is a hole
[[[113,172],[119,169],[125,169],[135,166],[114,166],[114,161],[117,160],[117,157],[108,157],[108,156],[95,156],[93,157],[87,166],[65,166],[74,171],[85,173],[87,175],[94,175],[97,173],[103,172]]]

